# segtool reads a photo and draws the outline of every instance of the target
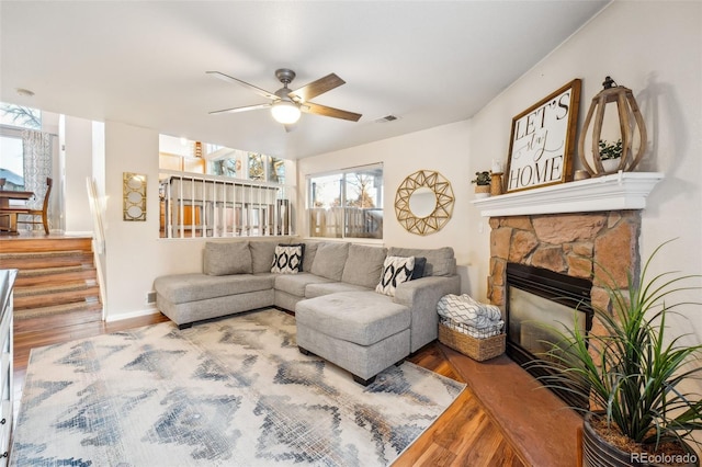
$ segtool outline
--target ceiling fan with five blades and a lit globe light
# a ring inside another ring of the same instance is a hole
[[[225,75],[220,71],[207,71],[207,73],[214,75],[215,77],[225,81],[241,84],[245,88],[248,88],[251,91],[256,92],[257,94],[270,99],[271,101],[264,104],[224,109],[222,111],[210,112],[211,114],[247,112],[270,107],[273,118],[275,118],[276,122],[285,125],[285,129],[288,132],[292,129],[290,125],[293,125],[299,119],[301,112],[330,116],[333,118],[348,119],[352,122],[358,122],[362,116],[361,114],[356,114],[354,112],[342,111],[340,109],[328,107],[326,105],[319,105],[315,104],[314,102],[309,102],[310,99],[314,99],[319,94],[331,91],[332,89],[346,83],[344,80],[342,80],[335,73],[327,75],[324,78],[319,78],[318,80],[293,91],[287,88],[287,84],[290,84],[295,79],[295,71],[287,68],[281,68],[279,70],[275,70],[275,78],[278,78],[278,80],[283,83],[283,87],[275,92],[269,92],[264,89],[261,89],[253,84],[249,84],[246,81],[241,81],[238,78],[230,77],[229,75]]]

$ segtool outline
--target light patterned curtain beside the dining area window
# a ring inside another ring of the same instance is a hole
[[[34,192],[27,202],[33,209],[41,209],[46,195],[46,178],[52,176],[52,135],[25,129],[22,132],[24,147],[24,190]]]

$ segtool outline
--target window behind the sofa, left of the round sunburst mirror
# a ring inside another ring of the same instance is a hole
[[[383,166],[307,179],[309,236],[383,238]]]

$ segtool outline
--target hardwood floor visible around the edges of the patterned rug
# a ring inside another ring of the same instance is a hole
[[[19,408],[30,350],[35,346],[116,332],[168,321],[161,314],[114,322],[69,322],[50,329],[19,330],[14,334],[15,411]],[[432,343],[409,361],[446,377],[462,380],[445,356],[445,348]],[[467,357],[466,357],[467,358]],[[520,459],[500,429],[488,417],[475,395],[466,388],[456,401],[427,430],[394,466],[514,466]]]

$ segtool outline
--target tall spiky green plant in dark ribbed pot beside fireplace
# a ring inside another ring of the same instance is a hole
[[[562,342],[552,344],[539,365],[562,373],[540,379],[590,400],[587,410],[574,408],[585,412],[584,466],[700,465],[688,442],[694,442],[693,430],[702,429],[702,400],[687,385],[702,373],[702,344],[686,346],[684,338],[668,340],[664,332],[669,312],[702,305],[669,301],[678,292],[701,289],[688,285],[701,275],[646,277],[653,258],[669,241],[646,261],[638,282],[629,275],[627,291],[603,287],[612,311],[593,309],[604,335],[588,337],[578,326],[552,329]],[[610,273],[604,275],[615,284]],[[586,383],[574,385],[574,379]]]

